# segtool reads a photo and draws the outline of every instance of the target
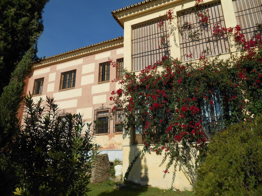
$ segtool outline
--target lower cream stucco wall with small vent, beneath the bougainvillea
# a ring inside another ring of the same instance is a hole
[[[131,145],[123,146],[123,171],[127,171],[127,168],[137,155],[143,149],[143,145]],[[176,168],[176,175],[173,180],[174,167],[171,166],[168,170],[169,173],[166,173],[165,178],[163,178],[164,172],[166,170],[166,164],[163,164],[161,167],[159,165],[162,162],[162,155],[156,155],[155,153],[145,153],[143,159],[138,159],[130,174],[128,179],[140,184],[151,185],[153,187],[159,187],[162,189],[170,189],[171,187],[179,190],[191,190],[189,181],[184,176],[182,171],[179,171],[179,168]],[[140,181],[141,173],[148,173],[149,181]],[[123,173],[124,176],[124,173]]]

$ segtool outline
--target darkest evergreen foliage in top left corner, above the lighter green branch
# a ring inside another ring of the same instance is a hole
[[[0,95],[9,84],[18,62],[34,47],[43,31],[42,12],[48,0],[2,0],[0,2]]]

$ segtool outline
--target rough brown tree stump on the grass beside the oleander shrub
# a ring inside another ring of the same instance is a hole
[[[96,156],[94,168],[91,170],[92,177],[90,178],[91,183],[103,182],[109,178],[110,162],[107,154],[99,154]]]

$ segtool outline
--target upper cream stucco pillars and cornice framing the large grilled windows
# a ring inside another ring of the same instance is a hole
[[[137,8],[136,12],[128,11],[128,13],[123,13],[121,15],[121,20],[124,23],[124,67],[128,70],[132,70],[132,25],[142,23],[154,18],[159,18],[161,15],[165,15],[169,9],[173,9],[174,14],[181,11],[182,9],[187,9],[194,7],[195,1],[167,1],[166,6],[160,5],[157,9],[157,2],[147,3],[141,6],[140,9]],[[212,0],[206,0],[204,3],[212,2]],[[162,6],[162,7],[161,7]],[[221,6],[223,10],[224,20],[226,28],[235,27],[237,25],[233,3],[228,0],[221,0]],[[181,51],[179,47],[179,33],[176,28],[176,18],[173,20],[171,25],[169,25],[170,33],[170,54],[173,58],[181,58]],[[232,39],[230,40],[231,43]],[[236,48],[233,44],[230,45],[230,51],[235,52]],[[228,56],[228,55],[227,55]],[[226,58],[226,57],[221,57]]]

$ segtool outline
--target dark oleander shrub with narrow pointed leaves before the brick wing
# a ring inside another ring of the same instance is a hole
[[[14,145],[14,161],[21,165],[25,195],[87,195],[92,162],[98,145],[91,124],[80,114],[59,116],[57,104],[47,98],[34,104],[25,98],[25,116]]]

